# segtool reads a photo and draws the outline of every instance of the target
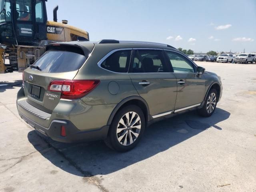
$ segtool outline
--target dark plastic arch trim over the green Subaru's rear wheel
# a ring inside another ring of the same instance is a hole
[[[114,110],[111,112],[110,117],[108,118],[108,125],[112,123],[112,120],[114,119],[114,116],[116,113],[123,107],[128,106],[130,104],[135,104],[139,106],[142,109],[142,112],[145,116],[145,121],[148,122],[150,120],[149,116],[149,107],[147,102],[140,96],[130,96],[128,98],[123,99],[121,102],[119,102]]]

